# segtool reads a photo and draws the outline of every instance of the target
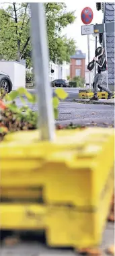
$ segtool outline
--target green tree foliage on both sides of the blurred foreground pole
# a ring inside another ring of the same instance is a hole
[[[62,36],[63,28],[75,21],[74,12],[67,12],[65,3],[44,3],[48,34],[48,49],[51,61],[69,61],[75,52],[75,41]],[[26,59],[31,66],[32,45],[30,42],[29,3],[10,3],[0,9],[0,56],[3,59]]]

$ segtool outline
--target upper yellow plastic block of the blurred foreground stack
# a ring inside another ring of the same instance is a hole
[[[41,189],[47,203],[97,207],[114,165],[114,129],[68,132],[54,143],[1,143],[1,197],[34,200]]]

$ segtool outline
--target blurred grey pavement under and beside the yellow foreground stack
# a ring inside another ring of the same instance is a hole
[[[34,239],[33,239],[34,240]],[[101,249],[103,256],[106,256],[106,249],[114,245],[114,224],[107,224],[104,232],[103,243]],[[36,241],[22,241],[13,247],[7,247],[1,244],[1,256],[79,256],[73,249],[50,249],[46,246],[44,239],[39,236]]]

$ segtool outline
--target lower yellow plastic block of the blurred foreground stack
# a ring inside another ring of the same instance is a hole
[[[100,177],[98,177],[100,183]],[[97,180],[95,187],[98,186]],[[100,245],[114,187],[114,169],[98,196],[98,205],[64,206],[38,203],[0,204],[1,230],[45,230],[51,247],[86,248]],[[91,186],[93,191],[93,187]],[[85,191],[87,193],[87,191]],[[91,196],[91,195],[90,195]],[[91,201],[91,200],[90,200]],[[87,203],[87,202],[86,202]]]

